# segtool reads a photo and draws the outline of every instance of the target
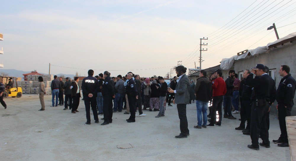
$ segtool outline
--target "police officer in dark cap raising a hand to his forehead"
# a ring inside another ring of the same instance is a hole
[[[255,78],[253,78],[254,74]],[[245,84],[254,87],[251,95],[250,136],[252,144],[248,145],[248,148],[259,150],[259,145],[270,147],[267,119],[270,103],[274,101],[272,96],[276,92],[274,80],[265,72],[263,64],[257,64],[255,68],[252,68],[252,73],[247,76]],[[259,135],[263,140],[260,144],[258,142]]]

